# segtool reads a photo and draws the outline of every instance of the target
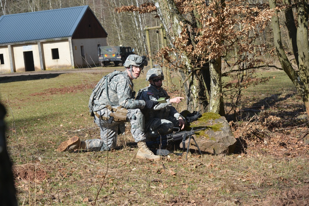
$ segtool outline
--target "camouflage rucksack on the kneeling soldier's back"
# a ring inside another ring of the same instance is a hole
[[[112,73],[107,74],[106,76],[104,76],[103,78],[101,78],[101,80],[97,83],[97,85],[94,87],[94,89],[92,90],[92,93],[90,95],[90,99],[89,99],[89,112],[90,112],[90,116],[94,116],[93,113],[93,108],[94,108],[94,100],[95,99],[99,99],[103,90],[105,90],[105,88],[108,88],[109,82],[110,80],[118,75],[118,74],[122,74],[122,72],[120,71],[114,71]],[[107,80],[107,81],[106,81]],[[102,107],[103,108],[103,107]]]

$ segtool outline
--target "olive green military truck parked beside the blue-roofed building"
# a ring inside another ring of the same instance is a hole
[[[113,62],[114,66],[122,66],[130,54],[134,54],[131,47],[106,46],[98,47],[99,62],[101,66],[106,66]]]

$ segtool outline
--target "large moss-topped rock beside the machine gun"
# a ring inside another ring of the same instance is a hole
[[[221,154],[233,153],[236,146],[236,139],[230,129],[230,125],[225,117],[215,113],[207,112],[203,116],[191,123],[191,128],[197,129],[207,127],[206,130],[195,132],[193,135],[196,144],[202,152]],[[186,140],[186,148],[189,139]],[[182,143],[180,144],[182,148]],[[197,149],[193,139],[190,141],[190,150]]]

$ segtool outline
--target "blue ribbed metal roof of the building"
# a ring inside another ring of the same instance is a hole
[[[72,36],[89,6],[2,15],[0,44]]]

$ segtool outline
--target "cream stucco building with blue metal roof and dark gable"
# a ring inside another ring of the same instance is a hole
[[[107,33],[89,6],[0,17],[0,73],[99,65]]]

